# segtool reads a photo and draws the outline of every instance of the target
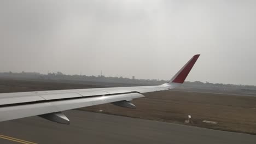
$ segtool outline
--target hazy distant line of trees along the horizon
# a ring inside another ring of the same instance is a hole
[[[48,73],[48,74],[40,74],[36,72],[24,72],[21,73],[13,73],[11,71],[0,73],[0,77],[2,78],[24,78],[24,79],[39,79],[39,80],[72,80],[72,81],[92,81],[92,82],[110,82],[110,83],[131,83],[131,84],[139,84],[139,85],[161,85],[162,83],[167,82],[166,80],[156,80],[156,79],[133,79],[133,78],[127,78],[127,77],[105,77],[104,75],[98,75],[98,76],[86,76],[86,75],[65,75],[61,73],[60,71],[57,71],[57,73]],[[249,86],[249,85],[233,85],[233,84],[223,84],[223,83],[210,83],[210,82],[201,82],[201,81],[194,81],[184,82],[184,86],[193,86],[193,87],[211,87],[211,88],[240,88],[243,89],[243,91],[246,91],[247,89],[254,89],[256,90],[255,86]]]

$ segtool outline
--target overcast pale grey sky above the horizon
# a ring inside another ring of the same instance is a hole
[[[255,1],[0,1],[0,71],[256,85]]]

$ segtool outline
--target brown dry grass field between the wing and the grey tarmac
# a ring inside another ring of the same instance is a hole
[[[109,113],[156,121],[184,123],[192,116],[197,127],[256,134],[256,97],[208,94],[181,91],[162,91],[145,94],[132,101],[136,110],[112,104],[84,107],[80,110]],[[206,124],[203,120],[218,124]]]

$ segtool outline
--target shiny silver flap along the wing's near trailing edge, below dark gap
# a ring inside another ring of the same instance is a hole
[[[98,97],[81,97],[70,100],[50,101],[46,103],[25,104],[16,106],[0,107],[0,122],[11,119],[18,119],[30,116],[43,115],[45,113],[53,113],[77,109],[80,107],[113,103],[115,101],[131,101],[135,98],[141,98],[144,95],[139,93],[117,94]]]

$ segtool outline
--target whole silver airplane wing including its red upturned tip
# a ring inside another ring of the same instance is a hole
[[[159,86],[0,93],[0,122],[40,116],[50,121],[69,124],[69,119],[62,111],[106,103],[135,108],[130,101],[144,97],[143,93],[164,91],[181,85],[199,56],[193,56],[170,81]]]

